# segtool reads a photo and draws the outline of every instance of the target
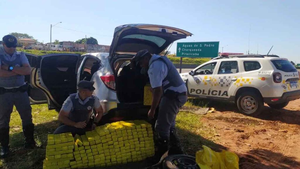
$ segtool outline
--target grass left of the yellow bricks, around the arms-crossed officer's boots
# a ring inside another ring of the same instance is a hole
[[[32,118],[35,124],[35,141],[38,148],[26,150],[22,132],[22,122],[16,109],[13,109],[10,119],[10,156],[0,160],[0,168],[4,169],[32,169],[42,168],[45,159],[47,134],[53,133],[58,127],[58,113],[48,110],[47,105],[32,105]]]

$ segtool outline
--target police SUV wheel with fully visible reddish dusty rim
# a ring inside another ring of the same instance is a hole
[[[264,102],[257,92],[246,91],[238,96],[236,105],[238,110],[244,115],[256,116],[262,112]]]

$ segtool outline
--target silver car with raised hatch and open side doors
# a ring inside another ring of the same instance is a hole
[[[27,77],[34,87],[30,99],[32,103],[45,103],[46,100],[49,109],[60,108],[70,94],[76,93],[77,82],[86,79],[95,81],[94,94],[101,100],[104,112],[108,114],[106,118],[146,117],[150,106],[144,105],[143,95],[149,78],[140,73],[141,68],[131,65],[131,58],[142,49],[161,54],[174,41],[191,35],[169,26],[130,24],[116,27],[109,54],[40,57],[26,54],[34,67],[31,77]]]

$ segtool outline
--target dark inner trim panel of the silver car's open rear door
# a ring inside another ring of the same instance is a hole
[[[45,57],[41,63],[43,82],[54,100],[62,105],[64,100],[76,93],[76,65],[78,57],[62,55]]]

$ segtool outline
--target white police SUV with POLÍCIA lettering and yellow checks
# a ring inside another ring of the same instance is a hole
[[[247,115],[259,114],[264,103],[281,109],[300,98],[299,72],[276,55],[216,57],[180,75],[190,97],[235,102]]]

